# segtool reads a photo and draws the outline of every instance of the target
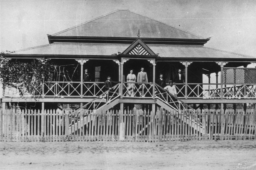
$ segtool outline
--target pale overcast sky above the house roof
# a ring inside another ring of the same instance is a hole
[[[48,44],[54,34],[129,9],[203,38],[205,46],[256,57],[255,0],[0,0],[0,51]]]

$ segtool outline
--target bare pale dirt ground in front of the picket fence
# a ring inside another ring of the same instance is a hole
[[[0,169],[256,169],[256,140],[0,142]]]

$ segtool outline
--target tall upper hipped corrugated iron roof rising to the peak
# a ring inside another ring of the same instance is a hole
[[[139,29],[142,38],[204,39],[129,10],[111,12],[52,36],[137,37]]]

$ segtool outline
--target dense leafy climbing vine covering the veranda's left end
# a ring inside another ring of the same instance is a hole
[[[36,95],[42,88],[44,77],[49,77],[53,65],[49,60],[38,59],[6,59],[0,57],[0,77],[5,85],[16,85],[26,88],[30,94]]]

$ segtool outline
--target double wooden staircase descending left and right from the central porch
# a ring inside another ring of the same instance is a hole
[[[118,89],[120,87],[120,83],[118,83],[116,86],[114,86],[113,91],[106,91],[102,95],[99,95],[97,98],[92,100],[91,102],[83,105],[82,107],[79,107],[75,110],[75,114],[79,114],[80,116],[74,116],[74,119],[72,123],[69,125],[69,134],[75,133],[78,129],[81,129],[88,123],[92,122],[91,116],[89,116],[91,113],[101,113],[105,112],[114,106],[116,106],[118,103],[120,103],[120,93],[118,93]],[[163,109],[171,112],[181,113],[184,111],[188,111],[190,108],[186,103],[181,101],[180,99],[176,98],[175,96],[169,94],[165,90],[161,89],[161,87],[157,87],[158,93],[155,94],[156,104],[162,107]],[[161,92],[160,92],[161,91]],[[200,133],[203,135],[205,134],[205,128],[203,127],[200,119],[193,118],[191,116],[184,116],[184,114],[177,114],[177,121],[183,121],[186,123],[189,127],[192,127],[194,129],[200,129]],[[78,118],[79,117],[79,118]],[[95,119],[95,117],[94,117]],[[96,116],[97,119],[97,116]],[[154,120],[152,120],[154,121]],[[146,128],[143,127],[139,134],[141,134]],[[77,128],[74,128],[77,127]],[[76,131],[74,130],[76,129]]]

